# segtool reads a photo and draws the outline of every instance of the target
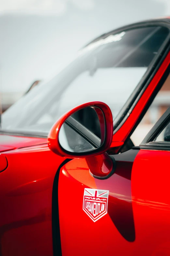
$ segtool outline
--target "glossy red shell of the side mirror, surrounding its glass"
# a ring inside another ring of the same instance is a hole
[[[104,124],[104,120],[102,120],[102,125],[101,128],[105,126],[105,142],[104,144],[101,146],[101,150],[100,152],[94,152],[91,153],[91,156],[95,156],[98,154],[102,154],[104,152],[106,152],[106,150],[110,147],[111,142],[112,142],[112,135],[113,135],[113,117],[112,117],[112,112],[110,110],[110,108],[103,102],[99,102],[99,101],[94,101],[94,102],[88,102],[85,104],[82,104],[70,111],[68,111],[66,114],[64,114],[51,128],[49,135],[48,135],[48,145],[49,148],[56,153],[59,156],[65,156],[68,158],[74,158],[74,157],[80,157],[83,158],[85,156],[87,156],[86,153],[84,153],[83,155],[74,155],[74,153],[69,153],[69,152],[65,152],[63,151],[60,143],[59,143],[59,132],[60,132],[60,128],[62,127],[63,123],[66,121],[66,119],[72,115],[73,113],[75,113],[76,111],[86,108],[86,107],[92,107],[94,109],[101,109],[103,111],[104,117],[105,117],[105,124]],[[97,112],[98,113],[98,112]],[[101,120],[100,115],[98,115],[99,117],[99,121]],[[101,131],[101,134],[103,136],[103,132]]]

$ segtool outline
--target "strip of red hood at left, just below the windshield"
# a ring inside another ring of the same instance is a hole
[[[20,137],[0,134],[0,152],[21,147],[46,144],[46,138]]]

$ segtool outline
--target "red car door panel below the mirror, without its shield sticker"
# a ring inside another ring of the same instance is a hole
[[[85,159],[59,175],[62,255],[170,255],[170,152],[129,150],[116,171],[93,178]],[[83,211],[84,188],[109,190],[107,214],[93,222]]]

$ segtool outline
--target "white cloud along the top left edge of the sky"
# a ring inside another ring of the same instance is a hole
[[[71,2],[80,9],[92,9],[94,0],[1,0],[0,13],[58,14]]]

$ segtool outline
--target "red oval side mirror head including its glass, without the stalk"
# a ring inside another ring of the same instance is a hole
[[[48,145],[60,156],[87,157],[106,152],[112,137],[110,108],[102,102],[90,102],[67,112],[53,125]]]

